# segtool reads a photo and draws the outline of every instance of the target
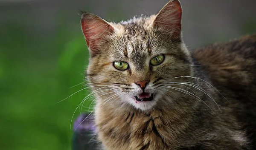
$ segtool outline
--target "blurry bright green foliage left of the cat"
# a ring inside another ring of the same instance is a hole
[[[84,81],[88,51],[81,31],[66,28],[50,37],[15,23],[0,31],[0,150],[70,150],[71,118],[88,91],[57,102],[83,88],[69,87]]]

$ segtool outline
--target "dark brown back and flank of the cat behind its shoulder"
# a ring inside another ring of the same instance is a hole
[[[200,48],[192,51],[192,57],[198,73],[208,74],[229,100],[228,109],[233,108],[241,130],[256,147],[256,34]]]

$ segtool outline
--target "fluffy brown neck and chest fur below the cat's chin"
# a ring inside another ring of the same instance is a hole
[[[177,136],[182,135],[190,122],[193,122],[192,113],[195,112],[192,109],[195,108],[192,105],[179,105],[179,109],[166,106],[147,112],[131,106],[96,106],[99,139],[108,142],[103,143],[108,145],[105,147],[107,150],[142,150],[143,147],[147,147],[147,150],[165,150],[167,147],[176,149],[183,141],[177,139]],[[108,141],[103,140],[105,138]]]

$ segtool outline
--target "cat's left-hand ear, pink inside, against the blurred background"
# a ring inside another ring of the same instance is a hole
[[[114,28],[101,17],[83,13],[81,17],[81,28],[84,33],[87,46],[91,52],[97,53],[99,45],[114,32]]]

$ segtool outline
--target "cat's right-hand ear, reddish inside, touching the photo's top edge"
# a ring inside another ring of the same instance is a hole
[[[159,11],[152,25],[160,31],[167,32],[173,37],[180,37],[181,34],[182,8],[179,0],[169,1]]]

